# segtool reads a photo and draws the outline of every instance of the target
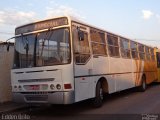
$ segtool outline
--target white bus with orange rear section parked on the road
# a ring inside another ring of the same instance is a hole
[[[15,30],[11,70],[13,100],[28,104],[72,104],[157,79],[155,48],[58,17]]]

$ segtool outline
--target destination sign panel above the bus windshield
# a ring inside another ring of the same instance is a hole
[[[43,30],[43,29],[54,28],[54,27],[67,25],[67,24],[68,24],[68,20],[66,17],[45,20],[45,21],[31,23],[31,24],[16,28],[15,35]]]

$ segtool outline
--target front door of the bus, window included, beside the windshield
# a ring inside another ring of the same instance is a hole
[[[89,44],[89,30],[81,30],[82,38],[79,38],[79,30],[76,25],[72,26],[74,43],[74,78],[75,78],[75,101],[91,98],[92,95],[92,61]]]

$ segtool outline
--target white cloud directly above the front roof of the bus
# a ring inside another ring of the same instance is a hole
[[[47,7],[46,16],[47,18],[57,17],[57,16],[73,16],[80,20],[84,20],[85,17],[81,15],[77,10],[72,7],[65,5],[56,5],[56,7]]]

